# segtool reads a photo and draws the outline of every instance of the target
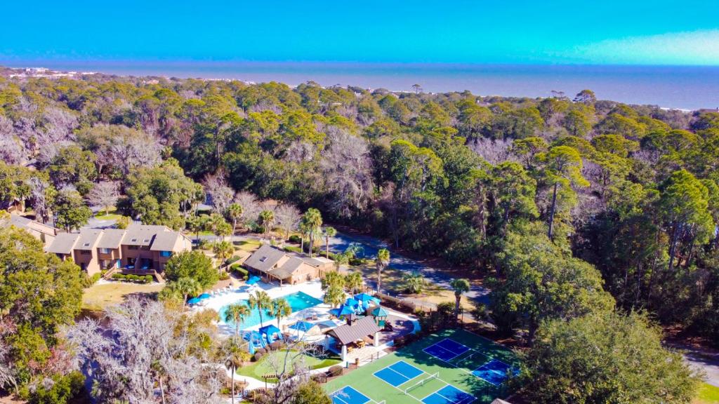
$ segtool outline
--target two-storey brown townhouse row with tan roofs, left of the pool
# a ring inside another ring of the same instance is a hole
[[[45,248],[60,259],[73,260],[88,275],[101,270],[156,274],[173,254],[192,249],[192,241],[166,226],[132,224],[127,229],[81,229],[60,233]]]

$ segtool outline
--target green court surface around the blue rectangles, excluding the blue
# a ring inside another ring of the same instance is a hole
[[[472,353],[471,351],[466,354],[461,354],[459,357],[461,357],[462,360],[456,362],[459,367],[454,367],[423,352],[423,349],[426,347],[446,338],[451,338],[465,346],[469,346],[478,352],[482,352],[486,356],[482,356],[476,352]],[[477,400],[475,400],[474,403],[491,403],[495,398],[505,397],[506,392],[503,391],[505,389],[503,389],[503,387],[495,387],[489,382],[485,382],[470,373],[473,369],[476,369],[485,362],[489,362],[490,358],[500,359],[515,367],[519,365],[518,359],[513,352],[504,346],[495,344],[493,341],[468,331],[446,330],[439,334],[427,336],[420,341],[416,341],[400,349],[398,352],[389,354],[370,364],[366,364],[359,369],[352,370],[347,375],[338,377],[327,383],[324,388],[327,392],[331,393],[344,386],[350,385],[377,403],[385,400],[387,403],[393,404],[417,404],[421,403],[423,398],[451,384],[475,396]],[[400,361],[411,364],[413,367],[421,369],[425,373],[404,382],[398,387],[393,387],[388,382],[374,375],[375,372]],[[439,377],[429,378],[430,375],[437,373]],[[406,387],[414,386],[420,380],[425,379],[426,382],[418,387],[412,388],[409,394],[405,395],[404,389]]]

